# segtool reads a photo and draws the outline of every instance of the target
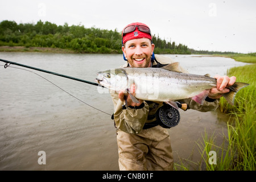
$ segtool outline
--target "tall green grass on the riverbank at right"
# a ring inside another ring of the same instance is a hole
[[[249,63],[256,63],[255,55],[233,57]],[[229,121],[228,136],[222,146],[214,144],[214,136],[203,137],[198,144],[207,170],[254,171],[256,167],[256,64],[229,69],[229,76],[236,76],[237,81],[250,84],[241,89],[235,98],[234,106],[224,98],[220,100],[220,110],[234,118]],[[217,152],[217,164],[209,164],[209,151]]]

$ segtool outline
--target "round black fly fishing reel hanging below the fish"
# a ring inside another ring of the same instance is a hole
[[[156,112],[156,119],[160,126],[170,129],[180,122],[180,113],[171,105],[164,104],[164,106],[160,107]]]

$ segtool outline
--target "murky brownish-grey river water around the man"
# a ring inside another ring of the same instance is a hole
[[[227,69],[245,65],[224,57],[166,56],[199,75],[225,75]],[[100,54],[0,53],[0,58],[92,82],[98,71],[125,63],[122,55]],[[118,170],[109,94],[98,93],[93,85],[31,71],[0,66],[0,170]],[[179,125],[168,130],[175,163],[197,163],[197,143],[204,132],[222,142],[228,117],[195,110],[180,110],[180,115]],[[45,152],[46,164],[39,164],[39,151]]]

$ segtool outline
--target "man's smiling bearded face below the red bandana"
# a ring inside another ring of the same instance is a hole
[[[122,51],[131,67],[147,68],[150,67],[151,55],[155,45],[147,38],[131,39],[122,47]]]

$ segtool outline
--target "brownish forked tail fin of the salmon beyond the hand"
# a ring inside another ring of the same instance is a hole
[[[223,97],[226,99],[226,101],[229,102],[229,104],[234,105],[234,98],[236,97],[237,92],[248,86],[249,84],[243,83],[243,82],[235,82],[232,86],[229,86],[229,92],[223,94]]]

